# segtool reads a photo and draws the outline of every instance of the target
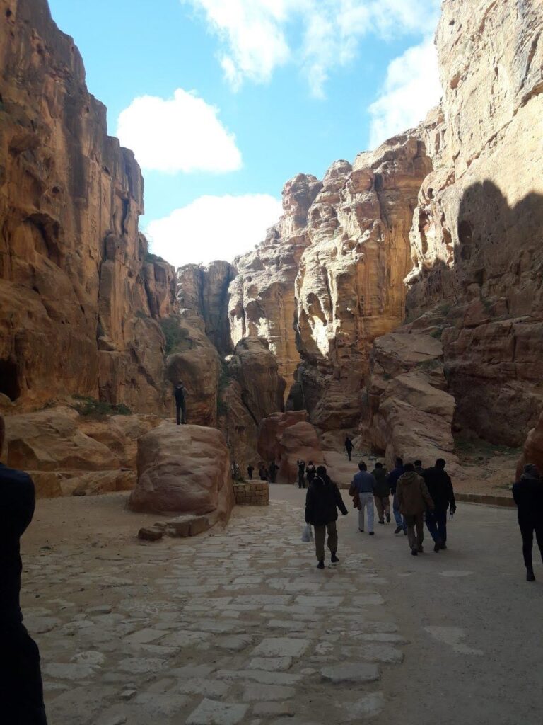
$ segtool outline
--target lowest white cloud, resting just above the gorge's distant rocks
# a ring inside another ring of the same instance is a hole
[[[180,267],[189,262],[231,261],[253,249],[277,223],[282,203],[269,194],[200,196],[169,216],[148,223],[154,254]]]

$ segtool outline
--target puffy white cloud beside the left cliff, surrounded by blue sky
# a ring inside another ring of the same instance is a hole
[[[194,91],[182,88],[170,99],[140,96],[120,113],[117,136],[144,169],[235,171],[242,165],[241,153],[218,113]]]

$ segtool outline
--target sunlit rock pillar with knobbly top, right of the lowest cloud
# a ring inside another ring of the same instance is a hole
[[[300,362],[295,336],[294,286],[298,264],[310,240],[308,210],[321,188],[312,175],[298,174],[283,188],[283,215],[254,252],[235,260],[237,276],[230,285],[230,330],[237,344],[245,337],[264,337],[277,357],[287,392]]]

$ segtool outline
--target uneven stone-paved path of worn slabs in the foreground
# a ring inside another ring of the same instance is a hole
[[[112,532],[74,544],[60,527],[58,541],[26,553],[25,621],[51,725],[332,725],[378,714],[379,680],[405,644],[384,582],[346,547],[339,565],[316,570],[301,528],[300,508],[273,502],[238,509],[211,536],[151,544]]]

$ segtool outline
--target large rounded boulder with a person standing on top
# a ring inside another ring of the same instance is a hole
[[[138,440],[132,511],[208,515],[228,521],[234,505],[230,455],[222,433],[164,421]]]

